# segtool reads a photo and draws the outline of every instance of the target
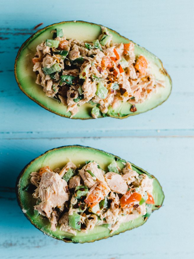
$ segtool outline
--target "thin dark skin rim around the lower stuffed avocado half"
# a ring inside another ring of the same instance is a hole
[[[123,160],[122,158],[120,158],[120,157],[118,157],[118,156],[115,156],[115,155],[113,155],[113,154],[111,154],[111,153],[108,153],[108,152],[105,152],[105,151],[99,150],[99,149],[94,149],[94,148],[91,148],[91,147],[81,146],[81,145],[62,146],[62,147],[57,147],[57,148],[53,148],[53,149],[50,149],[50,150],[46,151],[46,152],[43,153],[42,155],[40,155],[40,156],[36,157],[35,159],[33,159],[32,161],[30,161],[30,163],[28,163],[28,164],[22,169],[22,171],[20,172],[19,176],[17,177],[16,186],[15,186],[17,202],[18,202],[18,205],[21,207],[22,212],[23,212],[23,213],[25,214],[25,216],[28,218],[28,220],[29,220],[36,228],[38,228],[39,230],[41,230],[44,234],[47,234],[48,236],[51,236],[51,237],[53,237],[53,238],[55,238],[55,239],[58,239],[58,240],[63,240],[64,242],[67,242],[67,243],[72,242],[72,243],[75,243],[75,244],[76,244],[76,243],[85,243],[85,242],[94,242],[94,241],[96,241],[96,240],[100,240],[100,239],[105,239],[105,238],[108,238],[108,237],[112,237],[112,236],[114,236],[114,235],[118,235],[118,234],[120,234],[120,233],[122,233],[122,232],[125,232],[125,231],[127,231],[127,230],[133,229],[134,227],[132,227],[132,228],[130,228],[130,229],[124,229],[123,231],[120,231],[119,233],[115,233],[115,234],[112,234],[112,235],[107,235],[107,236],[105,236],[105,237],[96,238],[96,239],[92,239],[92,240],[89,240],[89,241],[83,241],[83,242],[82,242],[81,240],[79,240],[79,241],[77,242],[77,241],[75,241],[75,240],[73,240],[73,239],[71,239],[71,238],[68,238],[68,237],[64,237],[64,238],[57,237],[57,236],[53,235],[52,233],[49,233],[48,231],[44,231],[42,227],[40,228],[36,223],[33,222],[33,220],[30,218],[30,216],[26,213],[26,211],[25,211],[25,209],[24,209],[24,205],[23,205],[22,200],[21,200],[21,195],[20,195],[20,192],[21,192],[21,191],[20,191],[20,189],[21,189],[21,188],[23,189],[23,188],[25,187],[25,186],[21,186],[21,179],[22,179],[22,176],[24,175],[26,169],[27,169],[30,165],[32,165],[35,161],[37,161],[39,158],[41,158],[42,156],[48,154],[49,152],[55,152],[56,150],[59,150],[59,149],[68,149],[68,148],[90,149],[90,150],[93,150],[93,151],[97,151],[97,152],[104,153],[105,155],[109,155],[109,156],[113,157],[116,161],[126,162],[126,160]],[[153,175],[150,175],[148,172],[146,172],[146,171],[143,170],[142,168],[139,168],[138,166],[136,166],[136,165],[134,165],[134,164],[132,164],[132,163],[131,163],[131,165],[132,165],[132,167],[133,167],[134,169],[138,170],[139,172],[146,173],[148,176],[151,176],[152,178],[154,178],[154,179],[157,181],[157,183],[158,183],[158,185],[159,185],[159,188],[161,189],[162,197],[161,197],[161,202],[160,202],[159,205],[153,205],[154,207],[152,207],[152,212],[153,212],[154,210],[158,210],[158,209],[162,206],[163,201],[164,201],[164,193],[163,193],[163,191],[162,191],[162,187],[160,186],[158,180],[157,180]],[[29,177],[29,178],[30,178],[30,177]],[[25,192],[25,191],[23,191],[23,192]],[[138,225],[138,226],[143,225],[143,224],[147,221],[147,219],[148,219],[148,217],[144,217],[144,218],[143,218],[143,222],[142,222],[140,225]],[[137,226],[135,226],[135,227],[137,227]],[[86,236],[89,236],[89,235],[90,235],[90,234],[86,234]]]

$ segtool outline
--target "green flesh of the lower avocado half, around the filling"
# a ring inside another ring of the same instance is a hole
[[[31,221],[31,223],[45,234],[53,238],[74,243],[93,242],[95,240],[111,237],[113,235],[119,234],[120,232],[141,226],[143,223],[145,223],[147,217],[140,215],[133,221],[122,223],[119,229],[117,229],[112,234],[110,234],[110,230],[107,228],[107,224],[104,224],[103,226],[95,226],[93,230],[88,230],[87,233],[77,231],[77,235],[74,236],[70,233],[60,231],[59,226],[57,226],[56,231],[51,231],[49,220],[39,214],[37,215],[34,213],[33,206],[36,204],[36,200],[33,198],[32,194],[25,191],[26,186],[30,183],[30,173],[33,171],[39,171],[41,167],[47,165],[51,169],[55,169],[57,167],[63,168],[64,165],[66,165],[66,163],[69,161],[72,161],[76,166],[80,165],[83,167],[85,165],[85,161],[87,160],[96,161],[99,163],[103,170],[106,170],[106,172],[108,171],[108,165],[114,160],[117,161],[116,163],[121,169],[124,167],[123,162],[126,163],[126,161],[120,157],[114,156],[102,150],[76,145],[51,149],[45,152],[43,155],[40,155],[39,157],[32,160],[22,170],[16,183],[17,199],[20,207],[22,208],[22,211],[25,213],[26,217]],[[149,177],[154,179],[153,198],[155,204],[152,205],[152,211],[157,210],[159,207],[161,207],[164,200],[164,193],[158,180],[136,165],[132,164],[132,168],[139,174],[146,173]]]

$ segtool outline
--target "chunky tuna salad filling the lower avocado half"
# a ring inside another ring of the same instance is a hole
[[[30,181],[35,215],[48,218],[52,231],[58,225],[73,235],[96,225],[112,233],[121,223],[146,217],[154,204],[153,179],[138,174],[129,162],[121,170],[114,160],[108,172],[94,161],[86,161],[83,167],[72,162],[62,169],[46,166],[32,172]]]

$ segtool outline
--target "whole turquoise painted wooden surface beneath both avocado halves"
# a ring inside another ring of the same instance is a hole
[[[193,258],[193,1],[8,0],[0,9],[0,258]],[[35,104],[17,87],[14,58],[35,25],[63,20],[103,24],[156,54],[172,77],[169,99],[124,120],[69,120]],[[43,235],[17,205],[15,181],[30,160],[70,144],[104,149],[154,174],[164,206],[140,228],[91,244]]]

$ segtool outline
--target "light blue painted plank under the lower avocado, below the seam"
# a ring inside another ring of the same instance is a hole
[[[164,206],[140,228],[91,244],[65,244],[43,235],[18,207],[15,180],[31,159],[46,149],[69,144],[104,149],[148,170],[163,186]],[[1,183],[9,187],[0,192],[1,208],[6,212],[6,216],[0,214],[1,255],[16,259],[193,258],[193,144],[194,138],[1,140]]]

